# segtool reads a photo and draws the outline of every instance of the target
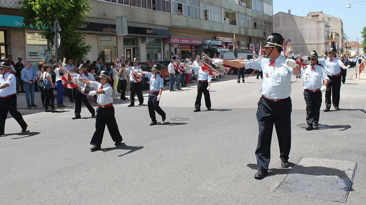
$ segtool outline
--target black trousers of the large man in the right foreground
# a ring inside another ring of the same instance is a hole
[[[291,98],[277,102],[261,97],[258,102],[257,121],[259,127],[258,145],[255,150],[258,170],[268,169],[271,153],[273,124],[276,127],[280,146],[280,159],[288,160],[291,149]]]

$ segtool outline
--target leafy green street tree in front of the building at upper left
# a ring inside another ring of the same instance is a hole
[[[90,11],[88,0],[20,0],[19,4],[25,26],[36,27],[51,44],[55,35],[53,23],[55,18],[59,20],[61,43],[57,50],[58,57],[78,60],[84,59],[90,52],[91,46],[86,44],[84,33],[75,30],[88,24],[85,21]]]

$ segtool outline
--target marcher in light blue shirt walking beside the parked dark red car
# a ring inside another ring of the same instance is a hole
[[[134,58],[134,60],[132,61],[135,67],[135,70],[140,70],[142,71],[142,69],[138,66],[138,59]],[[126,65],[127,66],[127,65]],[[143,96],[142,96],[142,90],[141,90],[141,82],[136,82],[135,79],[132,77],[132,71],[130,68],[125,68],[123,69],[126,72],[130,72],[130,80],[131,80],[131,84],[130,84],[130,100],[131,103],[127,106],[127,107],[134,107],[135,106],[135,94],[137,94],[138,97],[138,101],[139,104],[138,105],[142,105],[143,104]]]

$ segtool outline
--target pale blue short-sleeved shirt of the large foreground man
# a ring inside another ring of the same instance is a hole
[[[268,99],[285,99],[291,94],[291,76],[294,69],[286,65],[286,57],[280,55],[274,66],[269,66],[272,59],[260,58],[245,62],[245,67],[263,71],[262,89],[259,91]]]

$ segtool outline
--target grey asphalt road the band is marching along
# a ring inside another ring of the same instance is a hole
[[[341,109],[321,112],[320,124],[330,128],[306,131],[296,127],[306,123],[302,81],[292,84],[290,162],[302,157],[357,161],[347,204],[363,204],[366,84],[347,80]],[[291,170],[280,168],[275,132],[269,176],[254,179],[260,87],[254,76],[240,84],[224,76],[211,85],[213,110],[205,111],[202,99],[197,113],[195,86],[163,92],[160,105],[167,120],[156,126],[149,126],[147,106],[128,108],[128,102],[116,100],[125,144],[115,147],[106,129],[98,152],[89,151],[95,119],[86,108],[79,120],[71,120],[72,107],[60,113],[20,110],[30,132],[19,134],[14,119],[6,122],[8,135],[0,137],[0,204],[338,204],[273,193]]]

